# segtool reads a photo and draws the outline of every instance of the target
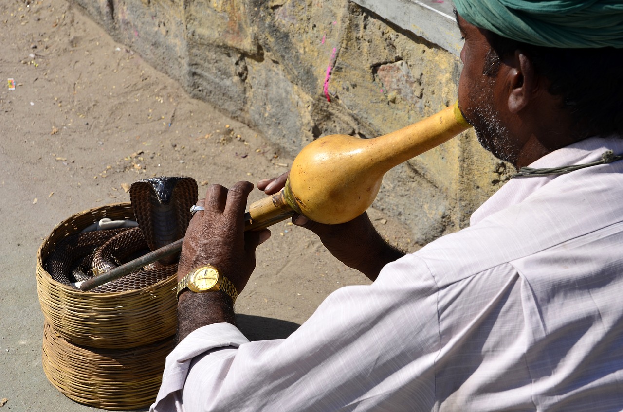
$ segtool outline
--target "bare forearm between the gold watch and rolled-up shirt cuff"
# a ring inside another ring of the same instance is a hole
[[[193,293],[186,291],[178,301],[178,343],[193,330],[215,323],[236,325],[234,302],[227,294],[214,291]]]

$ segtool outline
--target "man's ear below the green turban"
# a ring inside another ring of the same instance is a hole
[[[518,113],[530,103],[537,87],[534,65],[521,50],[515,50],[506,79],[510,89],[508,110],[511,113]]]

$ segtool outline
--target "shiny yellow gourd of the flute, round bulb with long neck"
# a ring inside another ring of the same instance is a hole
[[[316,222],[348,222],[374,202],[389,169],[470,127],[455,103],[379,138],[333,134],[317,139],[294,159],[285,198],[293,210]]]

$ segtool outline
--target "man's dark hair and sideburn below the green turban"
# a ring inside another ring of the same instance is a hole
[[[507,39],[488,31],[492,52],[485,74],[495,75],[500,60],[522,50],[536,72],[551,83],[549,93],[561,96],[563,107],[578,121],[578,132],[623,136],[623,49],[558,49]]]

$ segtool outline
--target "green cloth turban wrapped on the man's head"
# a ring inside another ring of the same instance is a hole
[[[622,0],[454,0],[454,5],[474,26],[528,44],[623,47]]]

